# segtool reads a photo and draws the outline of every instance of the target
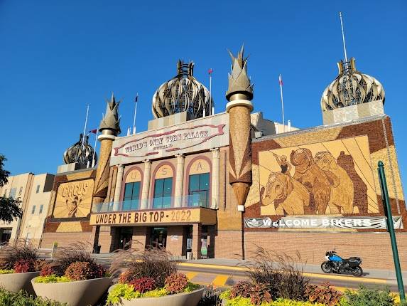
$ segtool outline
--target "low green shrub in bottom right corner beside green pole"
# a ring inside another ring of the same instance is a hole
[[[359,290],[345,290],[342,306],[394,306],[395,297],[389,287],[369,289],[359,285]]]

